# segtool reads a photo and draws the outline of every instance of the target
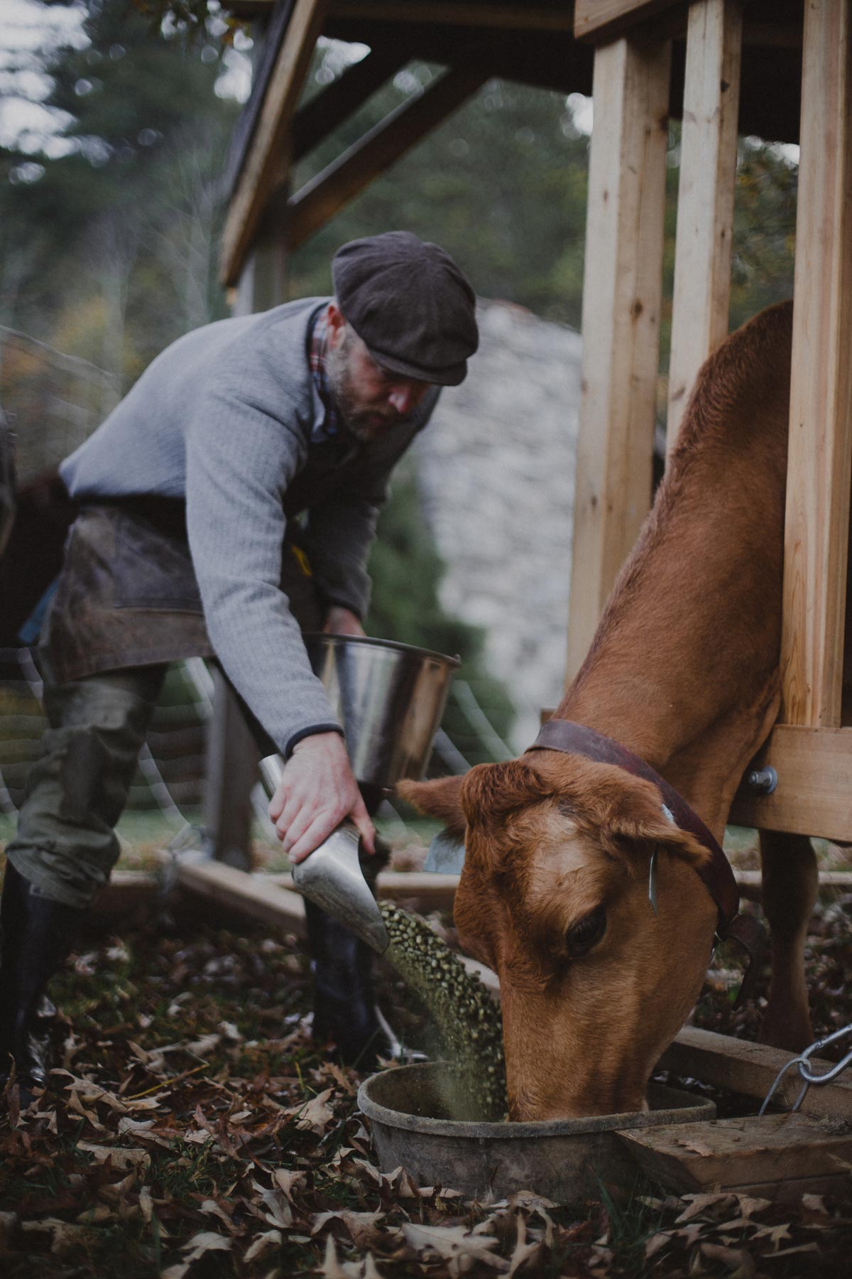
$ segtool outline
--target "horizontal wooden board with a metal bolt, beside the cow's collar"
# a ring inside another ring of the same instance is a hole
[[[852,839],[852,728],[777,724],[754,764],[772,765],[778,788],[770,796],[738,790],[729,821],[841,842]]]

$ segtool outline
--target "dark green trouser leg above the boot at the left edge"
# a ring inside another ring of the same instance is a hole
[[[56,686],[43,671],[49,729],[6,857],[46,897],[87,907],[107,883],[165,673],[141,666]]]

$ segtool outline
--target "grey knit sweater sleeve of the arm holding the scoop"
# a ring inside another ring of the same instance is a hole
[[[232,368],[199,396],[186,430],[186,527],[209,638],[285,756],[310,732],[340,730],[280,588],[282,495],[303,440],[280,393]]]

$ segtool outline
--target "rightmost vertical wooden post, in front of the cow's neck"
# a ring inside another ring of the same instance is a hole
[[[805,6],[793,284],[782,720],[841,724],[852,475],[852,32]]]

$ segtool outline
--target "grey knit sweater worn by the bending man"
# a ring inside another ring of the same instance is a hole
[[[301,540],[321,593],[363,616],[364,565],[388,476],[437,399],[430,391],[379,441],[332,445],[330,471],[330,445],[317,441],[326,409],[308,362],[313,318],[327,301],[291,302],[180,338],[60,467],[79,500],[185,496],[211,642],[285,755],[336,719],[278,586],[285,508],[293,515],[295,500],[308,510]]]

